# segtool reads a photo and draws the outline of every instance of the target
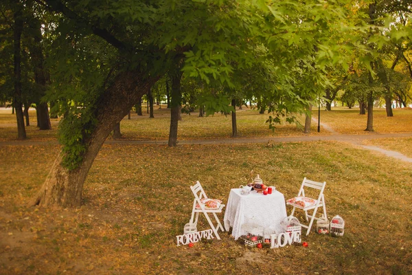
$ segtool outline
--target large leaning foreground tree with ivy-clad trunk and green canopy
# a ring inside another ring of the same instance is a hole
[[[175,112],[182,70],[207,85],[213,79],[233,88],[234,68],[251,67],[256,45],[266,45],[277,74],[273,96],[282,94],[279,108],[293,110],[307,100],[292,89],[291,61],[314,56],[320,70],[327,63],[346,63],[339,54],[332,56],[340,45],[328,37],[345,31],[341,2],[37,2],[59,14],[50,30],[54,63],[49,69],[51,98],[64,115],[62,151],[32,201],[43,206],[80,205],[84,180],[104,140],[166,72],[174,78]]]

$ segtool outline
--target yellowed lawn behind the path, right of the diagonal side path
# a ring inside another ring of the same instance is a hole
[[[317,113],[313,114],[317,118]],[[321,122],[328,124],[334,131],[347,134],[367,133],[367,114],[360,115],[359,109],[343,107],[332,111],[321,111]],[[412,109],[393,109],[393,117],[388,118],[385,109],[374,109],[374,130],[377,133],[412,132]]]

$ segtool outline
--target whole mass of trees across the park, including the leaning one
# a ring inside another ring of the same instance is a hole
[[[48,106],[62,117],[62,150],[33,205],[79,206],[106,137],[163,89],[169,146],[182,110],[231,113],[236,135],[245,100],[274,128],[345,91],[373,131],[376,98],[410,98],[404,1],[7,0],[0,10],[0,100],[12,100],[19,139],[23,107],[36,107],[40,129]]]

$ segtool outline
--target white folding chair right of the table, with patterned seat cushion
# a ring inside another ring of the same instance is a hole
[[[325,185],[326,185],[326,181],[323,181],[323,183],[317,182],[317,181],[311,181],[309,179],[306,179],[305,177],[304,181],[302,181],[301,188],[299,189],[299,193],[297,194],[297,197],[288,199],[286,201],[287,205],[293,206],[293,210],[290,216],[293,216],[293,213],[295,213],[295,209],[298,208],[298,209],[304,210],[306,221],[309,221],[308,218],[310,218],[309,225],[301,224],[302,227],[308,228],[308,231],[306,232],[306,236],[308,236],[308,234],[310,233],[310,228],[312,228],[313,221],[315,219],[316,220],[322,219],[322,218],[316,217],[316,213],[319,207],[323,208],[323,219],[328,219],[328,216],[326,215],[325,197],[323,196],[323,190],[325,189]],[[305,196],[306,188],[314,188],[314,189],[319,190],[319,196],[317,197],[317,199],[306,197]],[[308,214],[308,210],[313,210],[312,215]]]

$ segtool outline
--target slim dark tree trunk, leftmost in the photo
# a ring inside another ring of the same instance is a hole
[[[17,1],[16,1],[17,2]],[[23,100],[21,98],[21,32],[23,32],[23,12],[20,3],[16,3],[16,10],[13,14],[13,43],[14,43],[14,94],[13,106],[16,109],[17,139],[25,140],[27,135],[23,118]]]

